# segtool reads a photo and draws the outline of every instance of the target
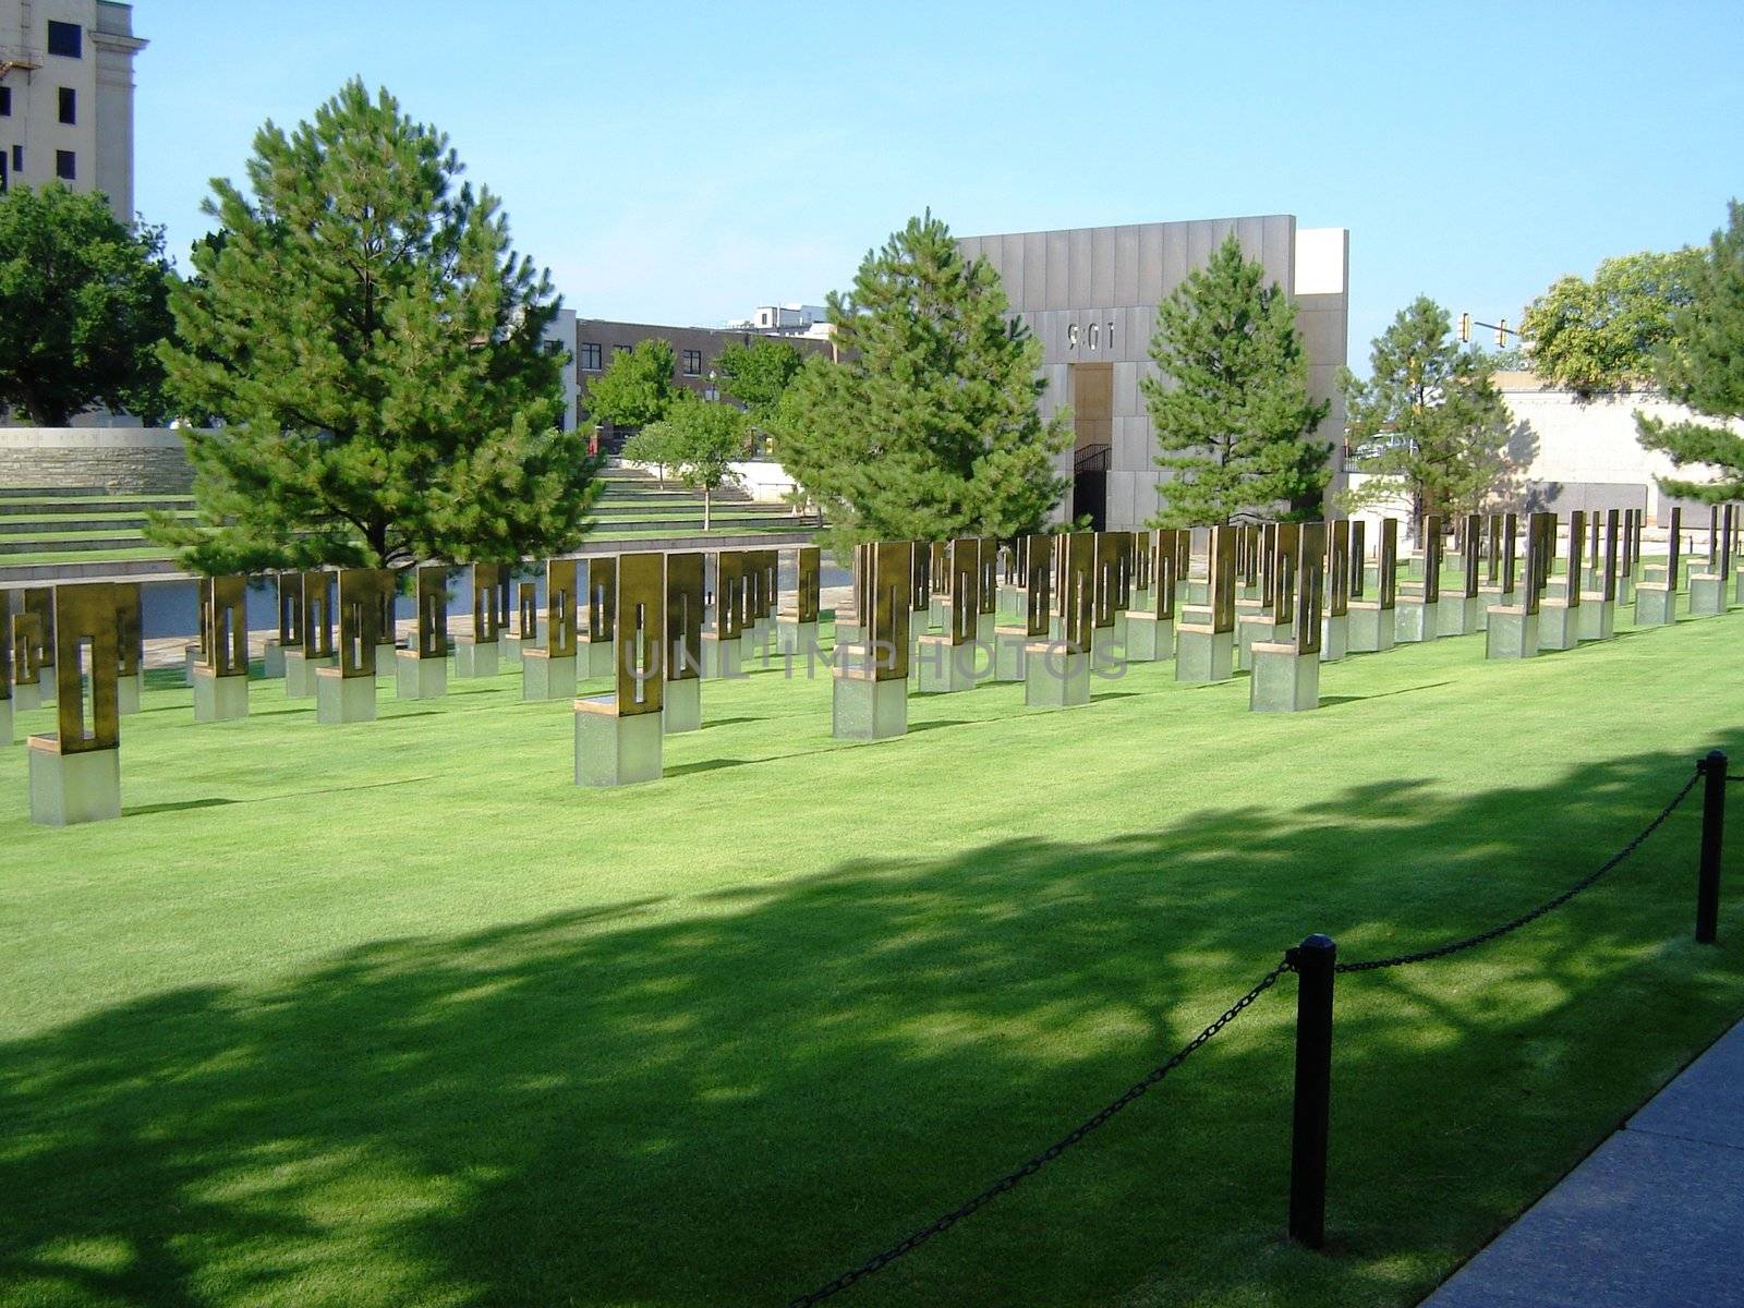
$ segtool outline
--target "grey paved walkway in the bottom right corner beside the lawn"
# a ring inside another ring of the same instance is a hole
[[[1744,1305],[1744,1022],[1423,1308]]]

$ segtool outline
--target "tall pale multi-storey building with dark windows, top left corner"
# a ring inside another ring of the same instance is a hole
[[[0,0],[0,190],[65,181],[133,213],[133,9]]]

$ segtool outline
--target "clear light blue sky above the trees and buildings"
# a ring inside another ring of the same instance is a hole
[[[1294,213],[1352,364],[1414,295],[1519,317],[1744,195],[1735,5],[136,0],[136,204],[178,256],[265,119],[351,75],[445,129],[584,317],[821,302],[959,235]]]

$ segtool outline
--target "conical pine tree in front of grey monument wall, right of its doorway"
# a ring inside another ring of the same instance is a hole
[[[1142,385],[1163,506],[1153,527],[1318,518],[1329,405],[1308,396],[1296,305],[1231,235],[1156,309]]]

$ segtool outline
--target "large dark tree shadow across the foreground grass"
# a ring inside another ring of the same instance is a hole
[[[1352,959],[1502,921],[1690,766],[1453,795],[1407,776],[1120,839],[862,856],[145,996],[0,1045],[0,1287],[785,1303],[1057,1139],[1308,931]],[[1282,1240],[1285,978],[858,1301],[1414,1303],[1744,1005],[1741,950],[1685,944],[1695,830],[1679,813],[1505,942],[1339,982],[1336,1256]]]

